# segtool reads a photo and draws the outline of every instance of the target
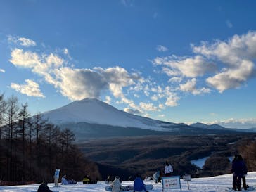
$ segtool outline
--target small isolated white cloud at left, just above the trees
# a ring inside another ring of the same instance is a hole
[[[20,92],[21,94],[26,94],[27,96],[34,96],[34,97],[42,97],[44,98],[44,94],[41,93],[39,89],[39,84],[36,82],[26,79],[26,84],[15,84],[11,83],[11,88],[15,89],[15,91]]]

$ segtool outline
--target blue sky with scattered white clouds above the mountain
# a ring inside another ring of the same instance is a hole
[[[0,1],[0,93],[256,127],[256,1]]]

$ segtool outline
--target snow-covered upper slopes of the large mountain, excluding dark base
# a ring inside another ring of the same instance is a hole
[[[117,127],[136,127],[156,131],[166,131],[167,127],[179,124],[152,120],[118,110],[96,98],[74,101],[56,110],[43,113],[53,124],[70,124],[86,122],[89,124],[105,124]]]

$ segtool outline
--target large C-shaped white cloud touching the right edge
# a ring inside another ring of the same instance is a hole
[[[241,87],[254,77],[256,32],[234,35],[228,41],[215,41],[213,44],[203,42],[200,46],[192,45],[192,48],[194,53],[217,59],[224,65],[216,75],[207,78],[207,83],[221,93],[226,89]]]

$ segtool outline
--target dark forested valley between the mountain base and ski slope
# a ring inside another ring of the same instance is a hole
[[[102,177],[120,174],[152,176],[163,172],[165,160],[174,167],[174,175],[210,177],[231,173],[231,157],[243,155],[249,171],[256,171],[256,134],[218,134],[198,136],[136,136],[86,141],[79,147],[87,158],[98,162]],[[192,160],[207,158],[203,168]],[[199,175],[196,175],[196,170]]]

